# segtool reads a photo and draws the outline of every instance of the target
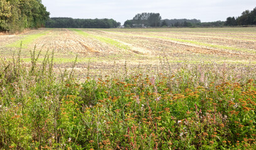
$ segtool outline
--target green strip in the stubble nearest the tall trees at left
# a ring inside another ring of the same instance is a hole
[[[43,31],[43,32],[40,32],[38,34],[31,34],[31,35],[25,36],[22,39],[19,39],[18,41],[13,42],[13,43],[7,45],[6,47],[20,47],[21,46],[21,42],[22,42],[22,47],[23,48],[28,48],[28,45],[31,42],[35,41],[35,39],[38,39],[41,36],[45,36],[48,32],[49,31]]]

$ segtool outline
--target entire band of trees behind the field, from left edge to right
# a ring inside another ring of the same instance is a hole
[[[37,27],[111,28],[119,27],[114,19],[73,19],[49,17],[41,0],[0,0],[0,31],[23,31]],[[159,13],[142,12],[124,22],[125,27],[218,27],[256,25],[256,8],[227,21],[201,22],[198,19],[164,19]]]

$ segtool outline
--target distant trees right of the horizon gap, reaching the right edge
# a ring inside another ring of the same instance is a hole
[[[226,21],[201,22],[198,19],[161,19],[159,13],[136,14],[131,20],[124,22],[125,27],[221,27],[250,26],[256,24],[256,8],[246,10],[241,16],[228,17]]]

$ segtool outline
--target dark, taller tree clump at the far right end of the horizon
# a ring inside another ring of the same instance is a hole
[[[228,17],[225,22],[226,26],[246,26],[246,25],[256,25],[256,8],[252,11],[246,10],[242,12],[241,16]]]

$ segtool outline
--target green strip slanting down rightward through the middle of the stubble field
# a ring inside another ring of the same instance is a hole
[[[114,39],[111,39],[109,37],[95,36],[93,34],[89,34],[87,32],[79,30],[79,29],[72,29],[72,31],[75,31],[75,32],[77,32],[77,34],[80,34],[80,35],[85,36],[85,37],[93,37],[93,38],[99,40],[100,42],[105,42],[105,43],[110,44],[112,46],[119,47],[120,49],[125,49],[125,50],[131,49],[131,47],[129,47],[125,44],[122,44],[118,41],[115,41]]]

